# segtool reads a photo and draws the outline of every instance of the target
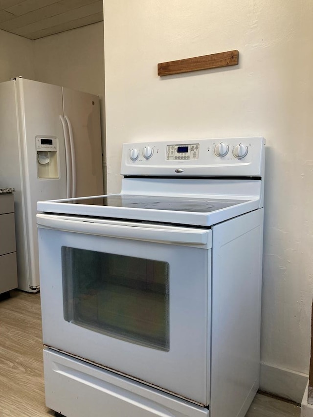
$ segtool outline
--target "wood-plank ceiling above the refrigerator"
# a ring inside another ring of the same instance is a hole
[[[103,21],[103,0],[0,0],[0,29],[39,39]]]

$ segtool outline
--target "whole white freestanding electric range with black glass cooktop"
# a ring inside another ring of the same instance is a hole
[[[243,417],[259,385],[265,140],[124,144],[122,191],[38,202],[46,404]]]

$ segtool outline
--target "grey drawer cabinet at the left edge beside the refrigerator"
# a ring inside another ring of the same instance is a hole
[[[14,198],[0,194],[0,294],[17,286]]]

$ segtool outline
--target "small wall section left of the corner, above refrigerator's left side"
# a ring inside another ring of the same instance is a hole
[[[33,79],[33,59],[32,41],[0,30],[0,82],[20,75]]]

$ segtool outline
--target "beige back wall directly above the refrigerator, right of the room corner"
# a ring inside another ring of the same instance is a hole
[[[100,96],[105,152],[103,22],[47,36],[33,43],[37,81]],[[105,160],[105,155],[103,158]]]

